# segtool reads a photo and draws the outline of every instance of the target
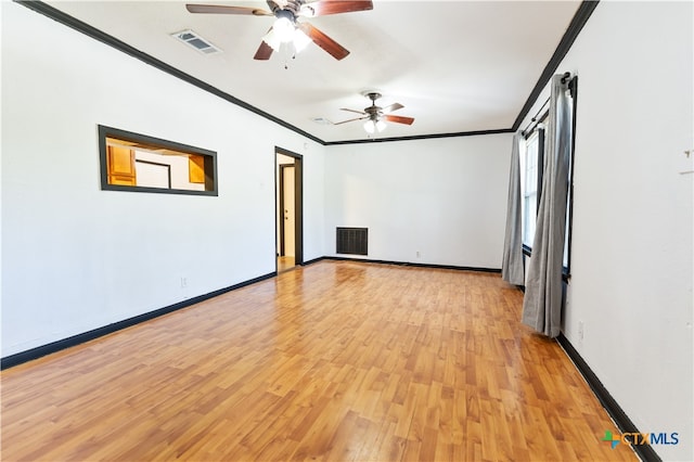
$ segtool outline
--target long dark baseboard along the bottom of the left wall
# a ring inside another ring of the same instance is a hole
[[[73,335],[72,337],[63,338],[61,341],[53,342],[47,345],[41,345],[39,347],[31,348],[26,351],[21,351],[14,355],[10,355],[8,357],[0,359],[0,370],[5,370],[8,368],[12,368],[13,365],[18,365],[24,362],[41,358],[43,356],[57,352],[62,349],[66,349],[79,344],[83,344],[89,341],[93,341],[94,338],[99,338],[104,335],[112,334],[114,332],[120,331],[126,328],[130,328],[141,322],[150,321],[154,318],[168,315],[179,309],[188,308],[192,305],[198,304],[201,301],[205,301],[218,295],[226,294],[227,292],[235,291],[236,288],[245,287],[247,285],[255,284],[256,282],[274,278],[275,275],[277,275],[277,272],[271,272],[248,281],[241,282],[239,284],[231,285],[229,287],[223,287],[223,288],[210,292],[208,294],[198,295],[196,297],[189,298],[187,300],[179,301],[177,304],[169,305],[167,307],[159,308],[154,311],[145,312],[143,315],[136,316],[133,318],[128,318],[123,321],[114,322],[113,324],[104,325],[103,328],[98,328],[98,329],[94,329],[93,331],[83,332],[81,334]]]

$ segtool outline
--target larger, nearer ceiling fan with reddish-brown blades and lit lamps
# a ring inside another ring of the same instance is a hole
[[[352,11],[373,10],[371,0],[268,0],[271,11],[249,7],[227,7],[221,4],[195,4],[185,5],[191,13],[208,14],[244,14],[253,16],[274,16],[277,21],[270,30],[262,37],[255,60],[269,60],[273,51],[280,50],[282,43],[292,42],[296,52],[301,51],[313,41],[336,60],[342,60],[349,54],[342,44],[327,37],[321,30],[309,23],[297,22],[297,17],[325,16],[327,14],[349,13]]]

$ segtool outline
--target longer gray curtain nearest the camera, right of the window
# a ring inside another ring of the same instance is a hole
[[[562,268],[571,150],[571,115],[562,77],[552,77],[542,195],[522,317],[523,323],[549,337],[560,334],[562,323]]]

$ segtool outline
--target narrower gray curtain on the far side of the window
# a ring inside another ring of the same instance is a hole
[[[509,175],[509,203],[506,205],[506,236],[503,241],[503,260],[501,277],[504,281],[525,284],[523,272],[523,230],[520,224],[520,153],[519,146],[523,132],[513,136],[511,147],[511,172]]]

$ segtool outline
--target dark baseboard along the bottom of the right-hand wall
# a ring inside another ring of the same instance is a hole
[[[588,363],[581,358],[576,348],[571,345],[571,343],[564,336],[564,334],[560,334],[556,337],[556,341],[562,346],[566,356],[574,362],[578,372],[583,376],[590,389],[593,390],[600,403],[605,408],[609,416],[619,432],[624,433],[641,433],[637,428],[637,426],[631,422],[631,419],[627,416],[626,412],[621,409],[621,407],[617,403],[615,398],[612,397],[607,388],[600,382],[597,375],[590,369]],[[642,461],[646,462],[657,462],[661,461],[660,457],[655,452],[651,445],[631,445],[633,451],[641,458]]]

